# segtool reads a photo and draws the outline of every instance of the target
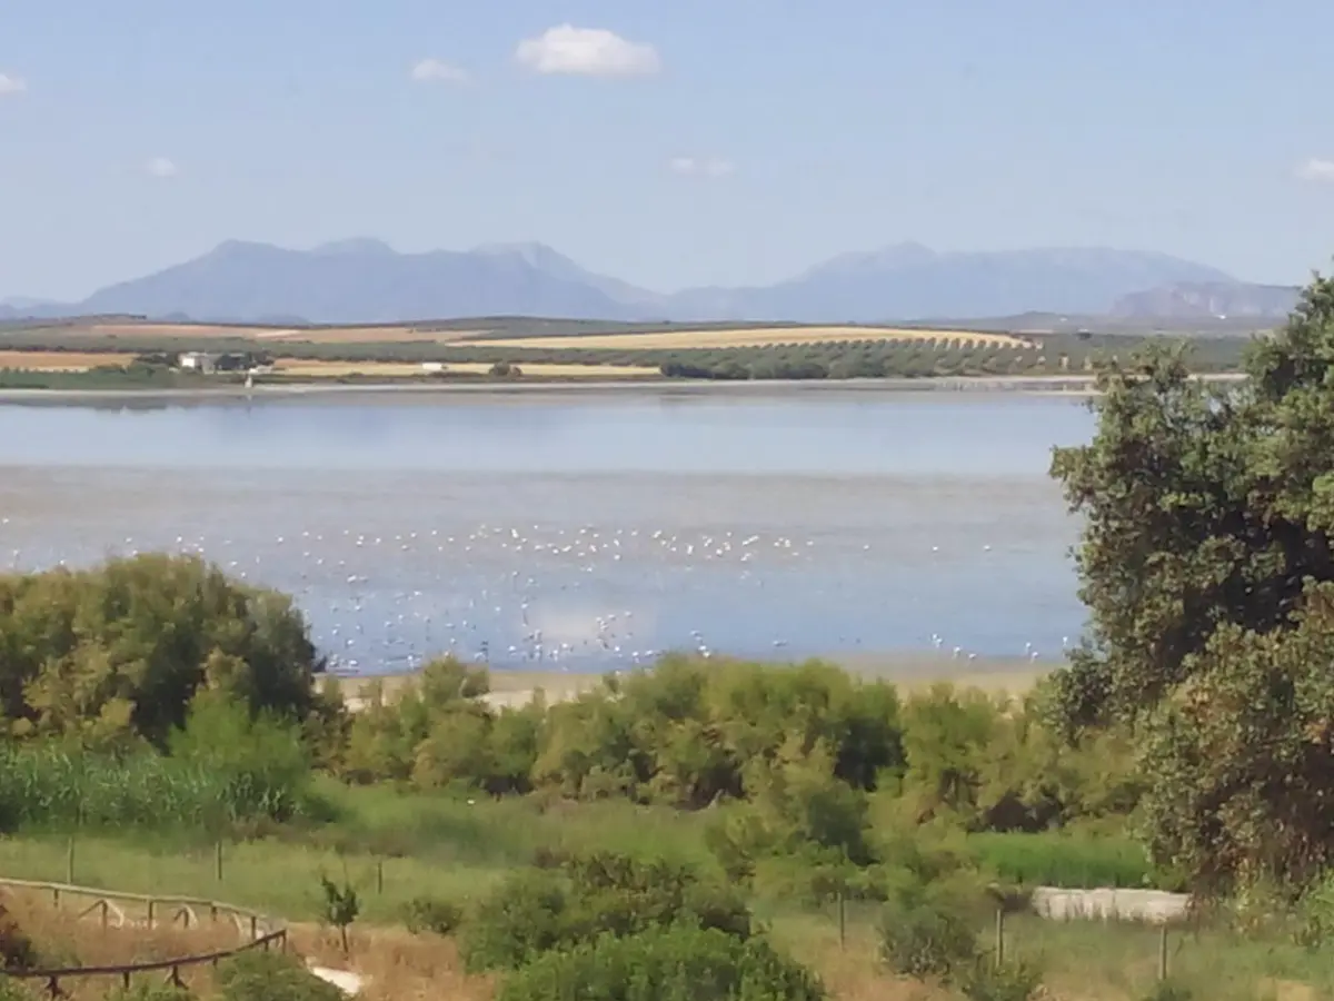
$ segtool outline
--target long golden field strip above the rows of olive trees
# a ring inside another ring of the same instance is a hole
[[[1030,347],[1010,334],[906,327],[755,327],[750,330],[672,330],[656,334],[590,334],[583,336],[472,340],[478,347],[586,348],[590,351],[679,351],[682,348],[774,347],[847,340],[962,340],[968,344]]]

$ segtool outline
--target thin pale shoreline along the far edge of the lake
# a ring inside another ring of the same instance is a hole
[[[1219,372],[1199,375],[1203,382],[1241,382],[1245,375]],[[84,404],[148,403],[263,403],[289,400],[356,400],[358,398],[407,398],[412,400],[447,400],[460,398],[523,396],[792,396],[806,392],[1015,392],[1021,395],[1069,396],[1094,395],[1091,375],[1005,375],[1005,376],[939,376],[924,379],[747,379],[747,380],[550,380],[495,383],[368,383],[264,384],[252,388],[225,386],[217,388],[136,388],[136,390],[21,390],[0,388],[0,403]]]

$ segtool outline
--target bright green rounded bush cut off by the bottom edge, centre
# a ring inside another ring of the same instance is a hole
[[[763,938],[672,926],[604,933],[536,958],[500,986],[496,1001],[823,1001],[806,968]]]

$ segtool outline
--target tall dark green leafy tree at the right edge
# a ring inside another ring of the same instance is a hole
[[[1051,467],[1090,615],[1053,705],[1071,735],[1135,734],[1162,862],[1299,888],[1334,862],[1334,280],[1245,372],[1101,371],[1093,442]]]

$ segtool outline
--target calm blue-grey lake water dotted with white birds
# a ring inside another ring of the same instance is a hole
[[[359,671],[1055,655],[1070,398],[438,394],[0,404],[0,567],[201,551]]]

